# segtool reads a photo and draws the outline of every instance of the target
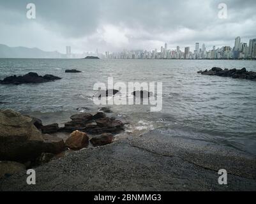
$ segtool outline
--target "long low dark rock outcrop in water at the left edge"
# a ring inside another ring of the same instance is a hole
[[[39,76],[37,73],[30,72],[27,75],[19,76],[13,75],[11,77],[6,77],[4,80],[0,81],[0,84],[39,84],[44,82],[52,82],[54,80],[60,80],[60,77],[54,75],[45,75],[43,77]]]

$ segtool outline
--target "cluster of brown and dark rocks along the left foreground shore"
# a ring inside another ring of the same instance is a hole
[[[114,134],[124,130],[123,122],[103,112],[80,113],[70,117],[63,128],[58,124],[43,126],[40,119],[13,110],[0,110],[0,175],[10,176],[22,170],[49,162],[66,150],[107,145]],[[66,140],[53,133],[70,134]],[[8,166],[10,168],[8,168]],[[17,169],[13,172],[13,169]]]

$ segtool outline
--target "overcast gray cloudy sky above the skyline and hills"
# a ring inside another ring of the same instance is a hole
[[[28,3],[36,19],[26,17]],[[218,4],[227,4],[227,19]],[[255,0],[0,0],[0,43],[46,51],[207,48],[256,38]]]

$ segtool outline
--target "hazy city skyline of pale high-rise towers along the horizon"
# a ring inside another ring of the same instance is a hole
[[[69,49],[68,49],[69,48]],[[71,57],[70,46],[67,46],[66,56]],[[159,52],[158,52],[159,51]],[[79,54],[78,54],[79,55]],[[176,49],[168,49],[168,43],[164,44],[159,50],[123,50],[123,52],[109,52],[104,54],[98,52],[84,52],[82,55],[96,55],[107,59],[256,59],[256,38],[251,39],[248,43],[243,42],[240,36],[234,40],[234,47],[223,45],[222,47],[213,46],[207,50],[206,44],[195,43],[195,49],[190,47],[177,46]],[[75,54],[73,55],[75,57]]]

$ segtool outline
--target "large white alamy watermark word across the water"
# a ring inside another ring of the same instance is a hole
[[[114,78],[109,77],[107,84],[102,82],[94,84],[93,91],[98,91],[98,94],[93,97],[95,105],[150,105],[151,112],[162,110],[162,82],[116,82],[114,84]],[[117,92],[118,96],[114,96]],[[128,97],[129,95],[134,97]]]

